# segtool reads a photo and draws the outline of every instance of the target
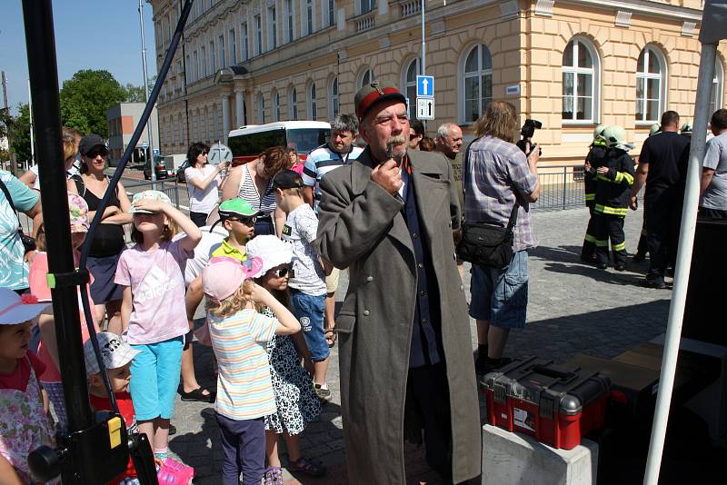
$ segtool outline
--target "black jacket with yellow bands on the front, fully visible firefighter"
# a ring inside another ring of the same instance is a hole
[[[625,217],[629,210],[633,183],[633,159],[619,148],[606,152],[603,165],[608,173],[598,173],[596,181],[596,205],[594,213]]]

